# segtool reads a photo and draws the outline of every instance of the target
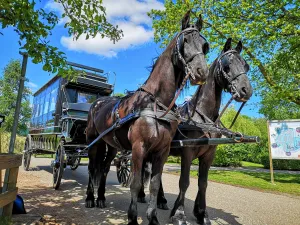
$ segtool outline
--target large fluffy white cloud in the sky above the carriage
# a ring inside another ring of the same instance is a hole
[[[124,37],[113,44],[108,38],[97,35],[93,39],[85,40],[82,35],[78,40],[73,36],[61,37],[61,44],[73,51],[82,51],[105,57],[116,57],[118,52],[148,43],[153,38],[151,19],[147,12],[151,9],[163,9],[158,0],[103,0],[106,7],[107,19],[117,24],[123,30]],[[50,1],[46,7],[62,13],[61,5]]]

